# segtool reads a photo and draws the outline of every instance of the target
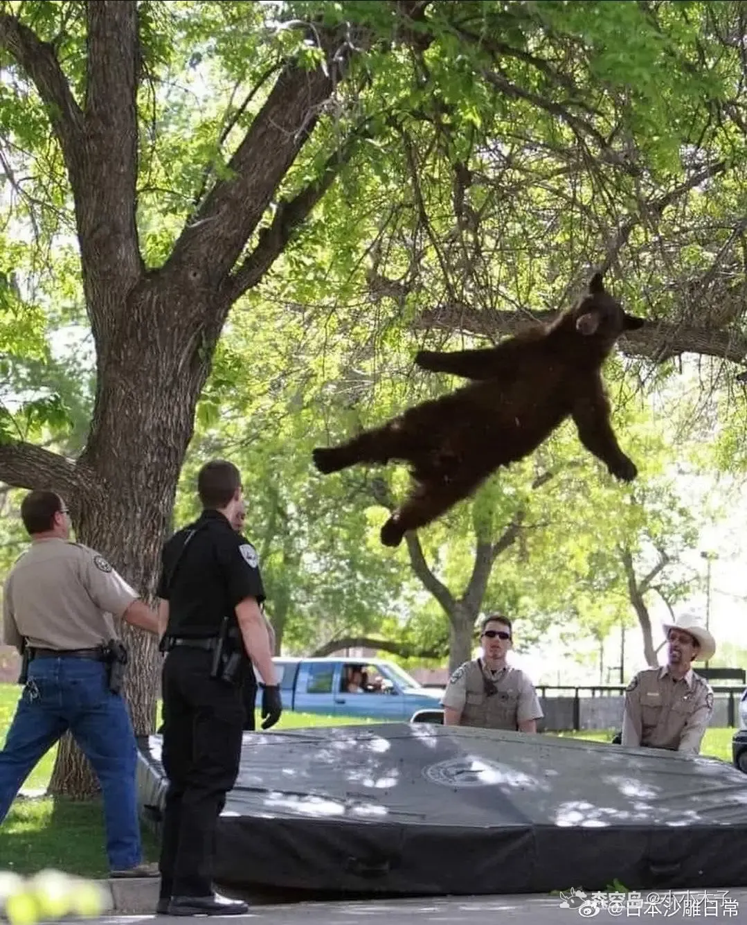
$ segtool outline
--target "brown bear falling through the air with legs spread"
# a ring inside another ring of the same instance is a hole
[[[551,325],[484,350],[420,351],[415,362],[423,369],[474,381],[337,447],[313,450],[313,462],[323,473],[359,462],[411,463],[416,484],[382,527],[386,546],[467,498],[499,466],[532,453],[569,416],[586,449],[630,481],[638,471],[610,425],[601,368],[618,337],[643,324],[597,273],[582,300]]]

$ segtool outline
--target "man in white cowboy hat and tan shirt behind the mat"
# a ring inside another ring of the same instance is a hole
[[[691,663],[712,659],[716,642],[695,613],[665,623],[664,632],[667,664],[638,672],[628,685],[622,745],[697,755],[713,714],[714,695]]]

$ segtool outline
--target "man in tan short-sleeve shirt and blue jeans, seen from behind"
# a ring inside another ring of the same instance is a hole
[[[32,491],[21,503],[31,547],[3,593],[3,637],[28,646],[28,681],[0,752],[0,822],[43,755],[69,730],[91,761],[104,795],[113,876],[156,875],[141,864],[135,775],[137,746],[124,699],[109,690],[104,647],[115,618],[153,634],[154,611],[95,550],[69,542],[63,500]]]

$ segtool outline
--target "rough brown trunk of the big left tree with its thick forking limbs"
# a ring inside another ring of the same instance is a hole
[[[150,600],[195,407],[228,310],[261,281],[360,142],[362,124],[330,148],[318,173],[292,198],[277,195],[345,79],[353,49],[365,49],[374,36],[365,27],[314,29],[325,60],[312,68],[285,62],[231,156],[227,176],[215,179],[197,203],[165,263],[149,269],[137,224],[139,5],[99,0],[82,8],[86,81],[80,103],[55,46],[9,12],[0,12],[0,48],[35,84],[67,168],[96,348],[92,425],[77,462],[23,441],[0,445],[0,480],[58,491],[79,542]],[[247,253],[274,200],[274,217]],[[140,631],[123,636],[130,653],[125,696],[135,733],[149,734],[158,690],[155,639]],[[60,747],[54,793],[91,790],[86,763],[75,752]]]

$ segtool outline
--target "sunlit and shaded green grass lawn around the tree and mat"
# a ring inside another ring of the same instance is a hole
[[[18,685],[0,684],[0,746],[5,744],[7,729],[13,719],[20,690]],[[366,721],[288,711],[274,728],[282,730],[361,722]],[[259,722],[257,726],[259,728]],[[705,733],[701,754],[730,763],[731,738],[734,733],[734,729],[709,729]],[[609,742],[613,731],[559,735]],[[52,775],[55,755],[56,747],[51,749],[31,772],[24,783],[24,792],[43,792]],[[155,841],[147,830],[143,831],[143,848],[147,859],[154,860],[157,857]],[[4,868],[16,870],[21,874],[51,867],[80,876],[105,876],[107,868],[101,801],[77,803],[66,799],[31,795],[18,799],[0,828],[0,858]]]

